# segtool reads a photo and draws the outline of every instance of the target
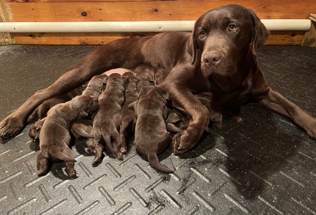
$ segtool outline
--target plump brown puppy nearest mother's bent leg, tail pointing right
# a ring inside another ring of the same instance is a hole
[[[173,171],[159,163],[157,154],[167,149],[172,140],[164,122],[170,111],[166,107],[169,101],[168,92],[156,86],[139,99],[135,108],[137,112],[136,149],[147,155],[150,165],[165,173],[173,173]]]

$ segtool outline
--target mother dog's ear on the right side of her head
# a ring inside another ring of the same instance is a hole
[[[266,29],[253,10],[249,9],[249,11],[252,14],[252,54],[257,56],[257,49],[268,40],[270,31]]]

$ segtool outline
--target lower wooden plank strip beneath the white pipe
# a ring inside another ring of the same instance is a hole
[[[156,33],[36,33],[36,34],[14,34],[18,44],[106,44],[112,40],[128,38],[130,36],[152,36]],[[266,44],[295,44],[302,42],[304,32],[272,32]]]

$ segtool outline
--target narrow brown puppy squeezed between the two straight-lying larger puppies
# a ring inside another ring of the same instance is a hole
[[[126,154],[128,148],[128,137],[135,132],[137,115],[129,105],[139,99],[135,82],[139,79],[132,72],[125,72],[122,75],[125,88],[125,102],[120,111],[119,135],[121,139],[120,151]]]

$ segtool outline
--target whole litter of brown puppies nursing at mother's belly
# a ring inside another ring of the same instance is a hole
[[[134,72],[96,75],[68,93],[72,96],[47,100],[33,112],[30,121],[38,121],[29,136],[40,144],[38,176],[46,174],[53,162],[64,161],[68,176],[76,177],[71,135],[86,140],[96,167],[105,148],[122,160],[134,133],[136,149],[148,156],[150,165],[173,173],[159,163],[158,155],[170,146],[171,133],[186,129],[188,119],[172,109],[168,92],[158,86],[159,73],[147,66]]]

